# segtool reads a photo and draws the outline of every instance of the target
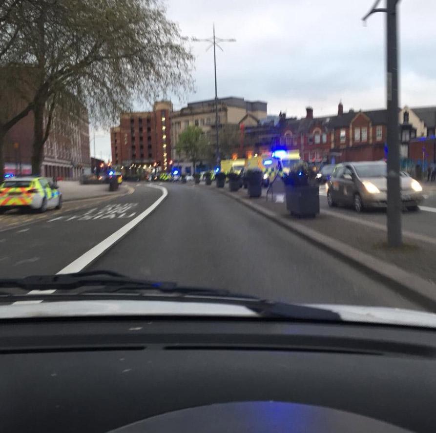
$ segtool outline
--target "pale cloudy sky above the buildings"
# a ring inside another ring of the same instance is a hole
[[[270,114],[315,116],[344,109],[385,107],[386,16],[361,18],[374,0],[163,0],[184,36],[235,38],[217,51],[218,96],[268,103]],[[380,5],[384,5],[382,0]],[[436,104],[436,2],[399,2],[400,105]],[[214,97],[213,52],[191,43],[195,92],[187,101]],[[149,109],[148,106],[138,107]],[[97,155],[110,157],[110,138],[97,131]],[[91,129],[92,134],[92,129]],[[93,150],[91,150],[93,154]]]

